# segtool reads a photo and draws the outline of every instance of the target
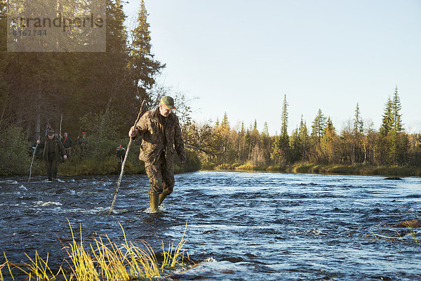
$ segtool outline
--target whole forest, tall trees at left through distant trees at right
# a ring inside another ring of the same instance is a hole
[[[122,2],[106,2],[105,52],[12,53],[6,51],[6,1],[0,1],[0,162],[6,163],[2,169],[9,169],[8,174],[18,169],[11,163],[28,156],[17,151],[45,135],[46,122],[71,138],[86,131],[95,145],[91,157],[103,159],[109,148],[127,143],[142,100],[145,111],[156,107],[163,95],[175,98],[189,155],[202,165],[421,165],[421,136],[403,129],[397,87],[385,103],[380,128],[363,124],[357,104],[342,131],[319,110],[311,124],[302,119],[289,136],[286,96],[279,135],[269,136],[267,125],[258,131],[256,122],[233,127],[227,114],[215,124],[199,126],[190,117],[185,94],[156,82],[165,64],[151,51],[144,1],[132,30],[124,25]],[[20,170],[27,166],[25,162]]]

